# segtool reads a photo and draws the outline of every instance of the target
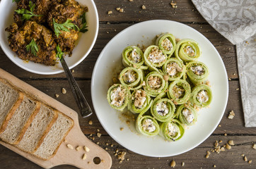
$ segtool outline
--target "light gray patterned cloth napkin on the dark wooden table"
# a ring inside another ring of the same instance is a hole
[[[245,127],[256,127],[256,0],[192,0],[207,22],[236,45]]]

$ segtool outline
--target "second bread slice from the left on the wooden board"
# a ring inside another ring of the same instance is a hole
[[[0,134],[0,139],[8,144],[18,144],[39,110],[40,102],[25,95],[21,105],[16,109],[11,119],[5,121],[8,125],[4,132]]]

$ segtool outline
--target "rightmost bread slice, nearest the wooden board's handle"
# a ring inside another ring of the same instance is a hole
[[[57,153],[60,144],[74,126],[74,121],[63,113],[59,113],[58,118],[51,130],[48,132],[42,144],[33,155],[48,160]]]

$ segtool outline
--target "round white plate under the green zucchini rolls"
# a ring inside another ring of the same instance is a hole
[[[199,61],[206,63],[209,67],[209,81],[213,93],[211,107],[199,111],[197,123],[189,127],[184,137],[177,142],[165,142],[160,136],[146,137],[133,132],[134,126],[129,128],[123,120],[120,120],[121,113],[107,103],[107,89],[122,65],[122,50],[129,45],[153,44],[152,39],[162,32],[170,32],[176,38],[191,38],[199,42],[202,47],[202,56]],[[226,109],[228,77],[221,56],[204,35],[182,23],[170,20],[149,20],[128,27],[105,46],[93,70],[91,95],[100,123],[116,142],[144,156],[175,156],[198,146],[214,132]],[[120,127],[124,127],[124,130],[120,131]]]

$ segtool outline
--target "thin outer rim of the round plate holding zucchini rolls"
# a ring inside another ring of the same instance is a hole
[[[178,23],[178,22],[175,22],[175,21],[171,21],[171,20],[148,20],[148,21],[144,21],[144,22],[142,22],[142,23],[137,23],[137,24],[135,24],[135,25],[132,25],[132,26],[130,26],[130,27],[127,27],[126,29],[124,29],[124,30],[122,30],[122,32],[120,32],[120,33],[118,33],[115,37],[120,37],[121,35],[123,35],[125,32],[128,32],[129,31],[129,29],[132,29],[132,27],[135,27],[135,26],[137,26],[137,27],[139,27],[140,25],[143,25],[144,23],[149,23],[149,22],[172,22],[172,23],[175,23],[175,24],[181,24],[181,25],[184,25],[184,24],[182,24],[182,23]],[[189,26],[187,26],[187,25],[185,25],[185,27],[189,27]],[[192,29],[192,30],[194,30],[194,28],[192,28],[192,27],[190,27],[190,29]],[[194,31],[196,31],[196,32],[198,32],[197,30],[194,30]],[[200,35],[202,35],[200,32],[198,32]],[[107,48],[108,48],[108,46],[110,46],[110,44],[115,40],[115,37],[113,37],[111,40],[110,40],[110,42],[108,42],[107,43],[107,45],[105,46],[105,48],[103,49],[103,51],[101,51],[101,53],[100,53],[100,56],[98,57],[98,60],[97,60],[97,62],[95,63],[95,67],[94,67],[94,69],[93,69],[93,75],[92,75],[92,81],[91,81],[91,96],[92,96],[92,101],[93,101],[93,106],[94,106],[94,108],[95,108],[95,113],[96,113],[96,115],[98,116],[98,120],[100,121],[100,123],[103,125],[103,127],[104,127],[104,129],[105,129],[105,131],[108,133],[108,134],[110,134],[110,136],[113,138],[113,139],[115,139],[115,141],[117,142],[117,143],[119,143],[119,144],[121,144],[122,146],[124,146],[125,148],[127,148],[127,149],[129,149],[129,150],[131,150],[131,151],[134,151],[135,153],[137,153],[137,154],[141,154],[141,155],[144,155],[144,156],[152,156],[152,157],[166,157],[166,156],[176,156],[176,155],[179,155],[179,154],[183,154],[183,153],[185,153],[185,152],[187,152],[187,151],[190,151],[190,150],[192,150],[192,149],[194,149],[195,147],[197,147],[199,144],[202,144],[202,142],[204,142],[204,140],[206,140],[210,135],[211,135],[211,133],[212,132],[214,132],[214,130],[216,129],[216,127],[218,126],[218,124],[220,123],[220,121],[221,121],[221,118],[223,117],[223,113],[225,112],[225,110],[226,110],[226,105],[227,105],[227,102],[228,102],[228,76],[227,76],[227,73],[226,73],[226,69],[225,69],[225,65],[223,64],[223,61],[222,61],[222,59],[221,59],[221,56],[219,55],[219,52],[216,50],[216,48],[214,47],[214,45],[213,44],[211,44],[211,42],[209,41],[209,39],[207,39],[206,37],[204,37],[204,35],[202,35],[202,38],[204,39],[204,41],[206,41],[207,43],[209,43],[210,45],[211,45],[211,48],[213,48],[214,49],[214,51],[216,52],[216,54],[217,54],[217,57],[221,60],[221,67],[222,68],[224,68],[224,70],[225,70],[225,73],[224,73],[224,76],[226,77],[226,80],[225,81],[223,81],[223,87],[226,87],[226,93],[225,94],[223,94],[224,96],[223,96],[223,100],[225,100],[225,102],[223,103],[223,107],[221,108],[221,115],[219,115],[219,118],[216,120],[216,122],[214,123],[215,125],[214,125],[214,127],[212,127],[211,128],[211,131],[208,133],[208,134],[206,134],[205,135],[205,137],[204,137],[204,139],[202,139],[202,140],[200,140],[199,142],[197,142],[197,144],[194,144],[194,146],[190,146],[190,148],[189,149],[186,149],[185,151],[180,151],[180,152],[178,152],[178,153],[174,153],[174,154],[145,154],[144,152],[140,152],[140,151],[136,151],[136,148],[134,148],[134,147],[127,147],[126,146],[126,144],[124,144],[124,142],[120,142],[120,140],[118,139],[118,137],[116,137],[114,134],[112,134],[112,132],[108,129],[108,127],[107,126],[105,126],[104,124],[103,124],[103,120],[100,118],[100,113],[98,113],[97,112],[97,107],[95,107],[96,106],[96,98],[95,98],[95,96],[94,96],[94,92],[95,92],[95,90],[94,90],[94,85],[95,85],[95,76],[96,76],[96,74],[98,73],[96,70],[98,69],[98,66],[100,65],[100,59],[103,57],[103,54],[105,53],[105,51],[107,50]],[[105,96],[106,97],[106,96]],[[149,139],[151,139],[151,138],[149,138]],[[170,143],[171,144],[171,143]]]

